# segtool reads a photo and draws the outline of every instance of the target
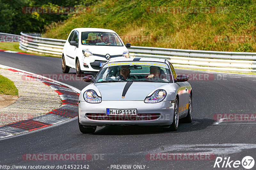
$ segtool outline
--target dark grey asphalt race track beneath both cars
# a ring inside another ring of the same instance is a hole
[[[61,59],[54,57],[0,52],[0,64],[36,74],[62,74]],[[82,134],[77,119],[74,119],[59,126],[0,140],[0,169],[1,165],[50,165],[55,166],[54,169],[58,165],[67,165],[66,169],[74,169],[68,165],[83,165],[83,168],[89,165],[89,169],[117,169],[114,165],[131,165],[131,169],[134,165],[142,165],[135,169],[150,170],[224,169],[213,168],[216,157],[230,157],[234,161],[242,161],[245,156],[256,159],[255,118],[251,121],[214,120],[216,114],[256,114],[256,76],[182,69],[176,72],[190,74],[195,79],[189,80],[193,89],[193,122],[180,124],[178,131],[166,132],[144,126],[109,126],[98,127],[94,134]],[[204,74],[210,80],[198,80]],[[75,76],[75,69],[71,69],[68,75]],[[88,85],[81,80],[58,81],[80,90]],[[27,153],[87,153],[92,155],[92,159],[36,161],[22,158]],[[192,158],[196,160],[180,160],[186,159],[186,154],[182,154],[179,160],[148,160],[148,153],[210,153],[213,157],[211,160],[203,160],[203,157],[199,157],[200,160],[197,157]],[[234,161],[231,168],[227,165],[226,169],[245,169],[242,165],[234,168]],[[223,161],[219,165],[222,164]]]

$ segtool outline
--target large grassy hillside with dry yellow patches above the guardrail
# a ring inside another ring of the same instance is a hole
[[[166,12],[167,7],[176,10]],[[132,46],[256,52],[253,1],[101,0],[89,8],[95,10],[45,26],[43,36],[67,39],[74,28],[107,28]],[[188,8],[194,11],[186,11]],[[196,11],[198,8],[212,11]]]

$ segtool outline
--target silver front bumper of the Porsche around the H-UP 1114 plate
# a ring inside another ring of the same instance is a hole
[[[136,116],[109,116],[108,109],[137,109]],[[79,101],[78,116],[82,125],[170,125],[173,122],[174,103],[144,103],[144,101]]]

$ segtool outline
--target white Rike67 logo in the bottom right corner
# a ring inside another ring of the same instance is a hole
[[[238,168],[239,166],[243,166],[245,169],[251,169],[254,166],[254,159],[251,156],[245,156],[242,161],[240,160],[230,160],[230,157],[217,157],[214,163],[214,168]]]

